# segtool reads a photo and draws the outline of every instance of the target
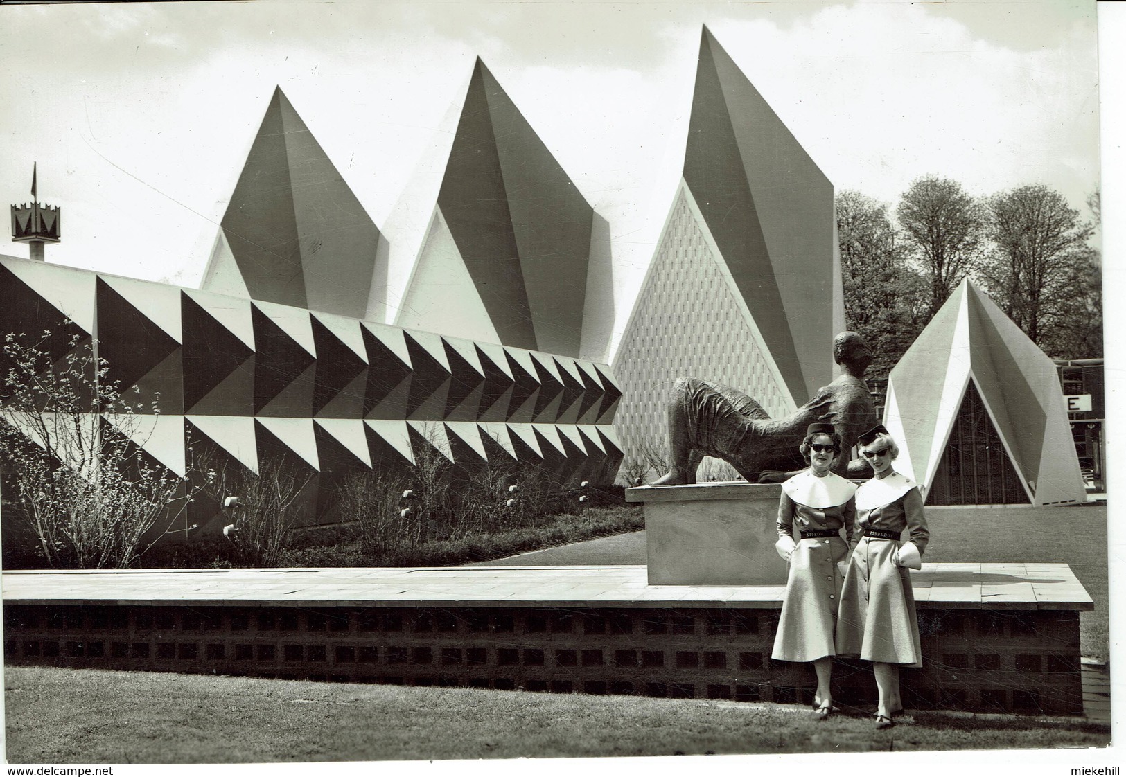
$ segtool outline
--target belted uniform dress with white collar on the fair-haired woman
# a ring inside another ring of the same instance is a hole
[[[910,572],[899,565],[899,539],[908,529],[906,542],[913,543],[920,555],[926,550],[930,533],[922,494],[914,481],[893,472],[860,485],[856,508],[857,541],[841,592],[837,653],[921,667],[919,620]]]

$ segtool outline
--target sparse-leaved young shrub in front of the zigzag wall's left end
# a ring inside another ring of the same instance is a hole
[[[55,361],[52,337],[6,337],[0,456],[50,566],[127,568],[172,530],[194,490],[133,441],[151,431],[155,402],[144,408],[108,379],[97,342],[72,336]]]

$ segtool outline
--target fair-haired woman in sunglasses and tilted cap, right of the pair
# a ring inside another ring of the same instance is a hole
[[[900,667],[922,666],[908,569],[920,568],[930,533],[922,494],[892,467],[900,448],[887,429],[877,426],[857,441],[875,477],[856,492],[857,542],[841,592],[837,652],[873,662],[879,690],[876,727],[890,729],[903,711]],[[903,529],[909,534],[901,545]]]

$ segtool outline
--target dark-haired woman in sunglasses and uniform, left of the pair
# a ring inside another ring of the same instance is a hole
[[[798,450],[810,468],[781,484],[776,547],[789,562],[789,577],[771,655],[777,661],[813,662],[817,673],[814,715],[824,720],[834,709],[829,680],[856,516],[856,485],[832,472],[841,452],[841,438],[832,423],[811,423]]]

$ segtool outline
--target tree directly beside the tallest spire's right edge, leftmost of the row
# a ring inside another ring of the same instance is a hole
[[[846,325],[875,351],[869,376],[884,378],[922,329],[928,286],[908,266],[886,205],[858,191],[835,204]]]

